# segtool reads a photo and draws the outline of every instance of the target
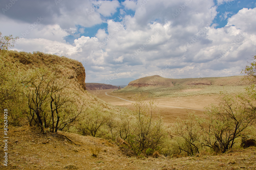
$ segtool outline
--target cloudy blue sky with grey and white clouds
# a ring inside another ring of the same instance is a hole
[[[80,61],[86,82],[223,77],[256,55],[256,0],[1,0],[12,50]]]

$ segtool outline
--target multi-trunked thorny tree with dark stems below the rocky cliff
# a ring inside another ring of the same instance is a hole
[[[80,114],[83,113],[83,103],[79,103],[80,109],[76,108],[76,97],[66,88],[69,81],[59,76],[58,72],[58,69],[52,72],[35,68],[30,71],[27,80],[23,81],[28,98],[29,123],[37,125],[41,130],[50,128],[54,132],[55,128],[57,132],[80,120]]]

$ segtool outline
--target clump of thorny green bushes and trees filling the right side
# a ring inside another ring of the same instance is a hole
[[[177,120],[173,131],[176,152],[187,155],[199,154],[201,150],[211,149],[216,153],[225,153],[238,142],[238,137],[247,135],[247,129],[254,127],[255,115],[255,61],[242,72],[245,80],[251,84],[246,88],[247,93],[236,95],[221,92],[218,104],[206,108],[206,118],[199,118],[189,113],[186,120]]]

